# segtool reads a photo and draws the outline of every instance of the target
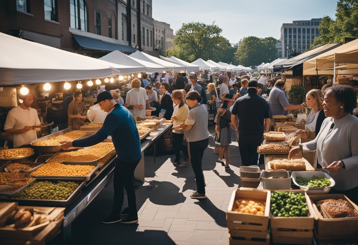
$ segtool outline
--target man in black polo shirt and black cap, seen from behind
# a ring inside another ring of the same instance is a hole
[[[261,144],[263,132],[267,133],[270,129],[269,104],[257,95],[257,89],[257,81],[250,81],[247,95],[235,101],[231,112],[231,122],[239,132],[239,150],[243,166],[257,165],[257,146]],[[239,118],[239,125],[236,115]]]

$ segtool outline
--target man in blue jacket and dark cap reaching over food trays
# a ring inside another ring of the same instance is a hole
[[[95,145],[107,139],[108,135],[112,135],[113,145],[117,153],[113,179],[113,207],[111,214],[102,222],[105,224],[116,222],[124,224],[137,223],[138,215],[133,174],[142,157],[138,130],[130,111],[126,107],[116,104],[110,91],[98,93],[97,101],[93,104],[97,103],[103,111],[108,112],[102,128],[96,134],[86,138],[67,141],[64,144],[64,149],[72,146],[86,147]],[[129,207],[121,212],[124,200],[123,187],[127,192]],[[125,220],[121,220],[121,215],[128,217]]]

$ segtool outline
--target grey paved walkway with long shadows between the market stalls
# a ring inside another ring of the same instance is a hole
[[[213,136],[214,126],[209,131]],[[214,146],[210,137],[203,158],[206,199],[190,198],[196,189],[190,164],[173,165],[174,155],[156,157],[154,164],[152,156],[145,156],[145,183],[136,190],[138,224],[101,223],[112,208],[111,182],[72,223],[73,244],[229,244],[226,210],[232,191],[241,186],[240,153],[232,134],[231,170],[225,170],[216,163]]]

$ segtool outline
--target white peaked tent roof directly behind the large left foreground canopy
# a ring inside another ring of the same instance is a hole
[[[164,66],[130,57],[118,50],[115,50],[99,59],[115,64],[126,64],[126,66],[144,66],[147,72],[164,71]]]

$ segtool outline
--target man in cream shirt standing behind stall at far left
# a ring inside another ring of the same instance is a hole
[[[14,134],[14,148],[21,145],[28,145],[34,139],[37,139],[34,125],[39,125],[40,120],[37,111],[31,106],[34,104],[34,95],[28,93],[19,98],[23,101],[19,106],[11,109],[6,117],[4,130],[6,133]]]

